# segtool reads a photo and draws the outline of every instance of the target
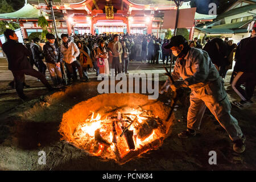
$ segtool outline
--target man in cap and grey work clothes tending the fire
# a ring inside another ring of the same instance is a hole
[[[190,48],[187,40],[181,35],[172,37],[170,44],[164,48],[171,49],[174,56],[178,57],[171,74],[174,82],[168,80],[171,89],[179,92],[179,88],[189,87],[192,90],[187,130],[179,133],[179,138],[196,135],[196,130],[200,129],[201,120],[208,107],[232,139],[233,150],[237,153],[245,151],[245,136],[238,126],[237,119],[230,114],[231,105],[224,84],[208,53]]]

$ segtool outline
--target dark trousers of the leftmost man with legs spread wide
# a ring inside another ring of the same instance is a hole
[[[46,77],[36,71],[35,69],[33,68],[30,68],[30,69],[22,69],[22,70],[19,70],[19,71],[11,71],[13,72],[13,76],[14,76],[14,81],[15,81],[15,89],[18,93],[18,96],[20,98],[24,98],[26,97],[24,92],[23,92],[23,81],[24,81],[24,75],[30,75],[32,77],[36,77],[38,78],[48,89],[51,89],[51,85],[49,84],[49,82],[46,80]]]

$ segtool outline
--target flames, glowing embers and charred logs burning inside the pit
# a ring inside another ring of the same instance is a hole
[[[118,110],[105,118],[100,114],[94,118],[94,115],[92,112],[92,117],[77,126],[73,137],[95,156],[117,156],[115,160],[121,160],[130,151],[141,150],[146,144],[163,138],[160,130],[166,130],[160,119],[146,110]],[[151,149],[145,148],[142,153]]]

